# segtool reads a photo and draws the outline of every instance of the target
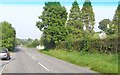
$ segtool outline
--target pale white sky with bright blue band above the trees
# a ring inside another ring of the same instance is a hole
[[[42,32],[36,27],[38,16],[43,11],[44,2],[60,1],[69,12],[74,0],[0,0],[0,22],[7,21],[16,30],[20,39],[40,39]],[[119,0],[91,0],[95,13],[95,31],[102,19],[112,20]],[[84,0],[77,0],[80,9]]]

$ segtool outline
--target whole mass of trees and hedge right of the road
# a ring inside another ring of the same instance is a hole
[[[93,30],[95,13],[90,0],[85,0],[81,10],[75,0],[69,15],[60,2],[46,2],[43,9],[42,15],[38,17],[41,21],[36,26],[43,32],[41,41],[46,49],[118,52],[120,3],[112,21],[104,19],[99,22],[98,28],[106,34],[105,38],[99,38],[101,32]]]

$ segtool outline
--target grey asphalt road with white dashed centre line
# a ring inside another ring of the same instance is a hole
[[[1,69],[0,69],[1,70]],[[2,60],[2,73],[95,73],[85,67],[39,53],[36,49],[16,48],[11,60]]]

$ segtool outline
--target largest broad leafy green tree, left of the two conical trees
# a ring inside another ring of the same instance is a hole
[[[41,21],[37,22],[36,26],[43,31],[45,47],[52,48],[66,38],[67,12],[59,2],[47,2],[43,9],[42,15],[39,16]]]

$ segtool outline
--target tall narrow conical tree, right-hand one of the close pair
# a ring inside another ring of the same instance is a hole
[[[95,14],[93,12],[90,0],[85,0],[81,13],[83,25],[85,26],[86,31],[92,33],[95,24]]]

